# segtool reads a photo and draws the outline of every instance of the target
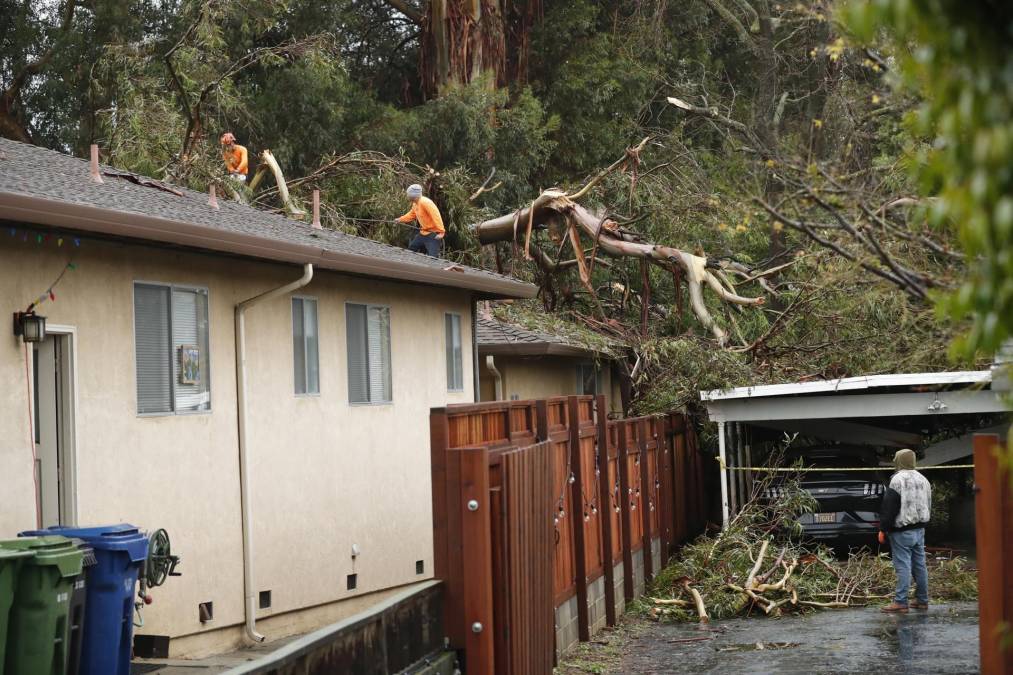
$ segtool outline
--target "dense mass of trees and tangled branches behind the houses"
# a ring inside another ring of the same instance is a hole
[[[274,153],[296,201],[321,191],[325,226],[399,244],[390,221],[421,182],[448,255],[540,285],[497,313],[607,336],[628,402],[671,408],[701,388],[941,368],[958,333],[971,359],[1011,334],[1010,21],[983,12],[0,0],[0,133],[97,143],[204,190],[231,131]],[[569,204],[529,209],[529,235],[515,215],[544,195]],[[244,198],[282,207],[272,184]],[[505,235],[474,227],[504,218]]]

